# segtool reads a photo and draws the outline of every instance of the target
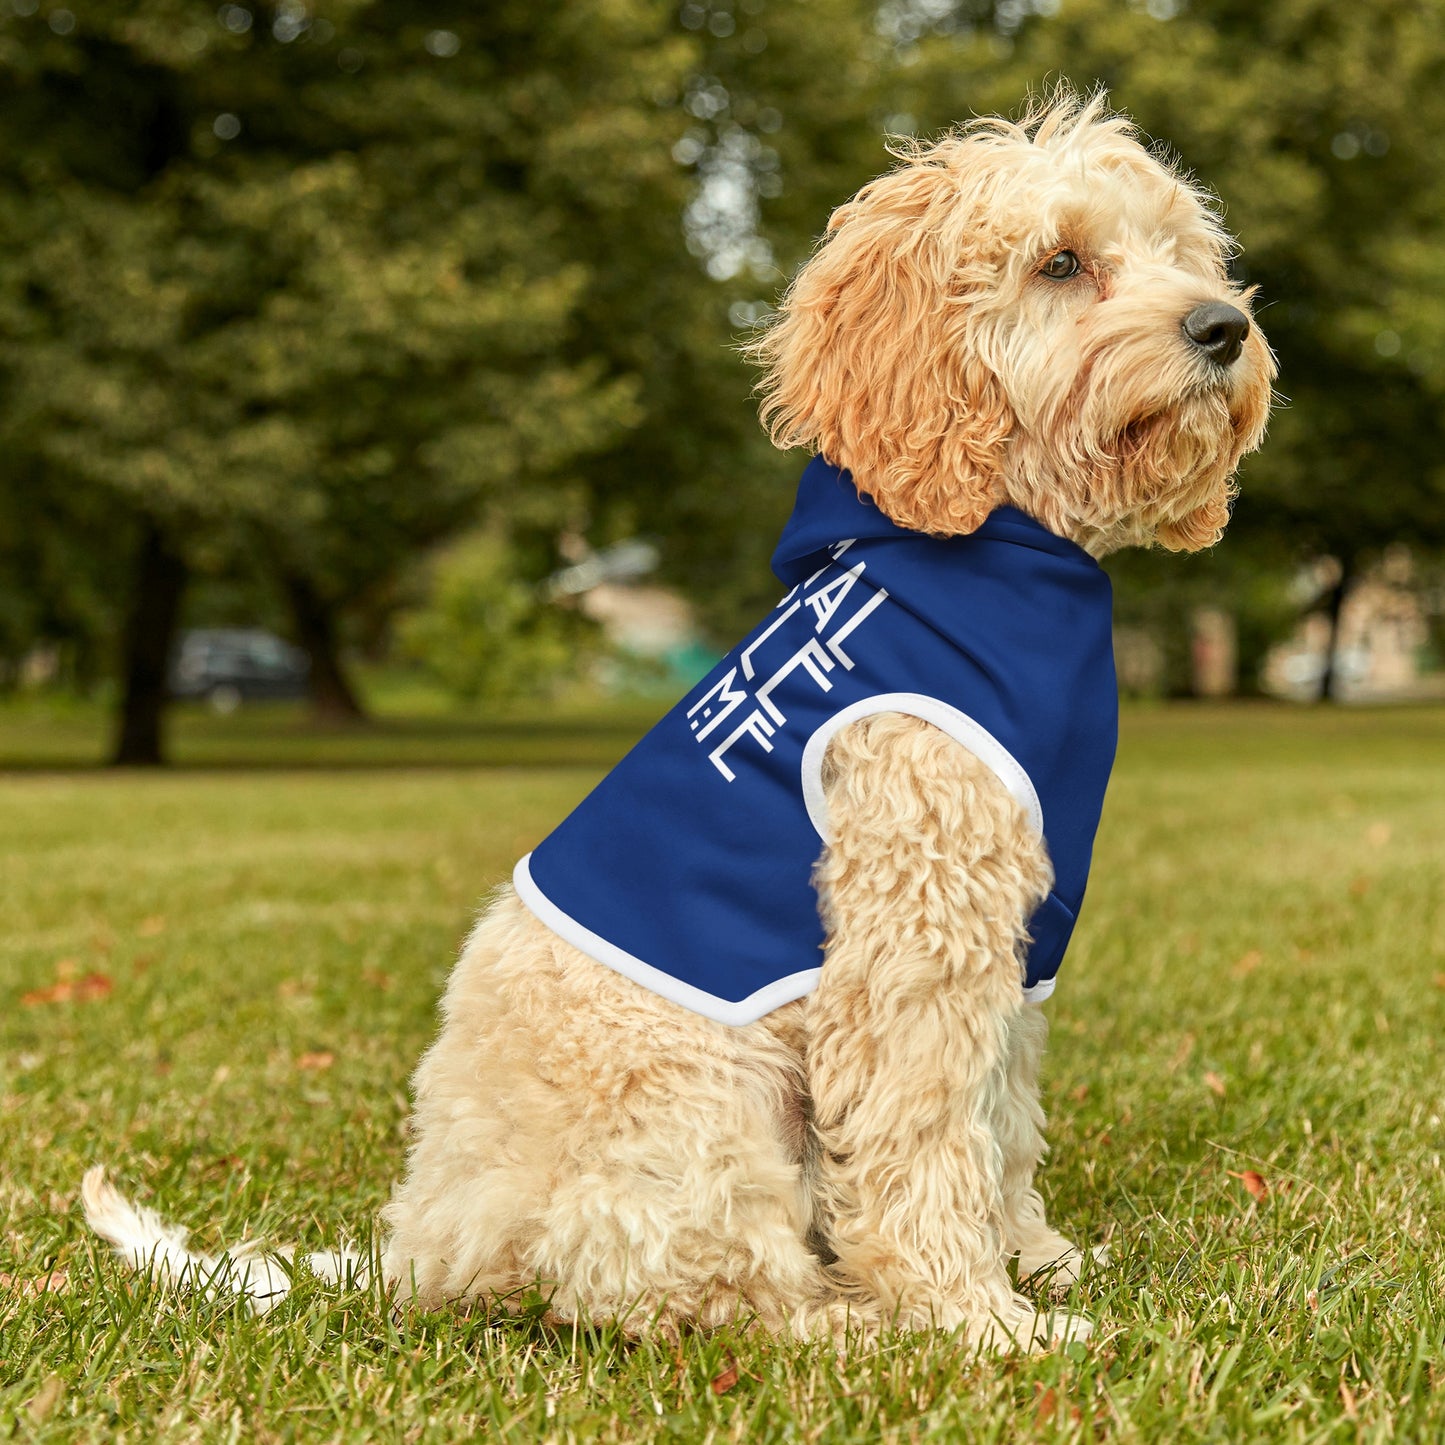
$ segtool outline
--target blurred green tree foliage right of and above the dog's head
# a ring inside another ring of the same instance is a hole
[[[1124,553],[1123,616],[1227,598],[1277,614],[1270,566],[1340,564],[1338,607],[1390,542],[1445,548],[1445,7],[1439,0],[899,0],[910,120],[1007,110],[1066,75],[1225,202],[1283,405],[1241,474],[1230,536]],[[1254,637],[1256,655],[1267,631]],[[1328,688],[1328,679],[1327,679]]]

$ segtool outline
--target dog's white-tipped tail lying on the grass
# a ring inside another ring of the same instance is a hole
[[[198,1289],[207,1299],[237,1296],[257,1315],[279,1305],[290,1290],[295,1250],[264,1250],[241,1244],[221,1254],[195,1254],[186,1248],[188,1231],[166,1224],[155,1209],[131,1204],[107,1178],[105,1166],[85,1170],[81,1181],[85,1222],[131,1269],[182,1289]],[[305,1256],[311,1272],[332,1285],[366,1285],[370,1261],[351,1248]]]

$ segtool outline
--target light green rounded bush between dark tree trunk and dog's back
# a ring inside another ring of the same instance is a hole
[[[522,578],[496,530],[460,539],[428,571],[426,600],[397,618],[397,639],[461,702],[546,696],[595,652],[595,629]]]

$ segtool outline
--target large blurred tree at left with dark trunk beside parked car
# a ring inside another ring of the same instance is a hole
[[[592,279],[553,176],[681,210],[647,97],[688,45],[643,0],[454,13],[0,22],[0,439],[39,493],[127,519],[120,762],[160,757],[153,629],[198,558],[260,549],[327,653],[341,608],[486,504],[555,525],[572,462],[640,419],[575,325]],[[35,494],[10,500],[23,526]]]

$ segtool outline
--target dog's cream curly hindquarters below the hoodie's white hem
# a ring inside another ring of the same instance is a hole
[[[795,1328],[825,1289],[806,1243],[802,1007],[714,1023],[503,890],[416,1072],[386,1276],[428,1305],[539,1290],[556,1319],[637,1334]]]

